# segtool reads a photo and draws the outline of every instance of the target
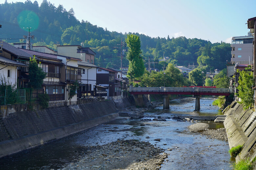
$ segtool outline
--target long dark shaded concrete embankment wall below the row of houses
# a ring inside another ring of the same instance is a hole
[[[118,116],[115,105],[129,105],[125,101],[96,101],[1,117],[0,158],[114,120]]]

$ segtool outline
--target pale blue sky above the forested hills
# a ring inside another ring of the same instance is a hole
[[[7,0],[8,3],[26,0]],[[34,2],[34,0],[31,0]],[[39,6],[43,0],[37,0]],[[140,33],[150,37],[185,36],[231,43],[245,36],[247,20],[256,17],[253,0],[48,0],[69,11],[79,21],[109,31]],[[4,3],[4,0],[0,0]]]

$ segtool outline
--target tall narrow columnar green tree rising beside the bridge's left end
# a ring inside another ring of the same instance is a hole
[[[127,71],[127,76],[132,78],[140,77],[144,74],[144,62],[141,57],[140,50],[140,39],[137,35],[127,35],[127,39],[125,39],[128,47],[128,52],[126,58],[129,61],[129,68]]]

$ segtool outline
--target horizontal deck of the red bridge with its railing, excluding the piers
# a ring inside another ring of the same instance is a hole
[[[201,88],[201,87],[130,87],[131,94],[184,94],[184,95],[218,95],[229,96],[229,88]]]

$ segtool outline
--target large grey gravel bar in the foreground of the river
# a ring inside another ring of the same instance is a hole
[[[168,154],[161,148],[144,141],[117,140],[85,150],[84,155],[61,170],[158,170],[164,161],[168,161]]]

